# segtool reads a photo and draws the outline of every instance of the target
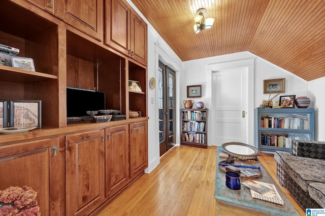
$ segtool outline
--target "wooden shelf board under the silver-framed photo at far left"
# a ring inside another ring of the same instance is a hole
[[[57,79],[56,75],[28,71],[19,68],[13,68],[8,66],[0,65],[0,80],[5,82],[16,82],[16,83],[31,83],[44,81],[49,79]]]

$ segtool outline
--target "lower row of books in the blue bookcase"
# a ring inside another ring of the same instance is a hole
[[[307,137],[294,136],[294,135],[261,135],[261,145],[291,148],[293,140],[309,140]]]

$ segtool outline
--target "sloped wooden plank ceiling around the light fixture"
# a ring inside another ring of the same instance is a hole
[[[249,51],[310,81],[325,76],[323,0],[131,0],[182,61]],[[210,29],[194,33],[206,8]]]

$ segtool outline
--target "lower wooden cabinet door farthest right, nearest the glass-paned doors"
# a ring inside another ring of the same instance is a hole
[[[130,124],[129,169],[131,178],[138,176],[148,167],[147,131],[147,121]]]

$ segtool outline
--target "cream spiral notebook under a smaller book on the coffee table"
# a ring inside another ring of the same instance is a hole
[[[256,182],[259,185],[262,185],[264,187],[267,187],[270,190],[267,191],[266,193],[260,194],[260,193],[257,193],[256,191],[250,189],[250,194],[253,198],[265,200],[265,201],[280,204],[280,205],[284,204],[279,192],[277,191],[276,187],[273,184],[269,184],[269,183],[265,183],[265,182],[257,182],[257,181],[254,181],[254,182]]]

